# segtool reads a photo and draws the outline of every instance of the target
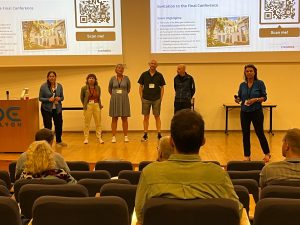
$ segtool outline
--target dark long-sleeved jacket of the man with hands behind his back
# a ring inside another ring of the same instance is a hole
[[[184,76],[177,74],[174,78],[175,102],[191,101],[195,94],[195,82],[191,75]]]

